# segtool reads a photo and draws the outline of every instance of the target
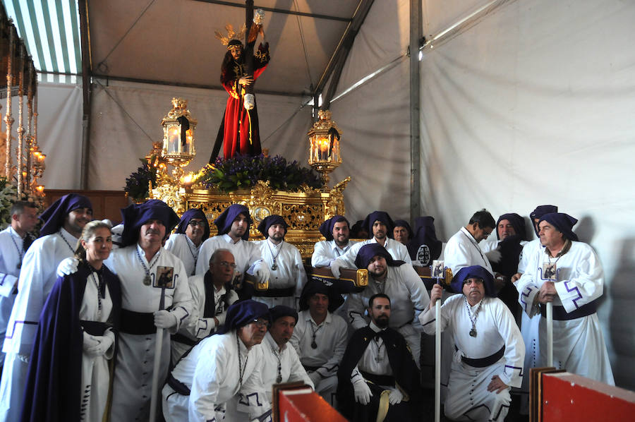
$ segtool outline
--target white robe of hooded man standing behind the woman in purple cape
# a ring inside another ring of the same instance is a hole
[[[0,422],[20,418],[37,322],[57,279],[57,265],[64,258],[73,256],[76,244],[77,239],[61,228],[57,233],[36,239],[25,253],[18,279],[18,296],[2,349],[6,358],[0,381]]]

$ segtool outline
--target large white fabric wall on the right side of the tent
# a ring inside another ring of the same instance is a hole
[[[615,380],[631,390],[633,22],[633,2],[511,1],[421,62],[421,185],[437,233],[482,207],[497,217],[549,203],[580,219],[605,269],[598,313]]]

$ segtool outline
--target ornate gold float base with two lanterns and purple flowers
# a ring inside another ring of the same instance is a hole
[[[226,207],[240,203],[249,208],[255,224],[250,238],[262,239],[257,227],[269,215],[282,215],[289,224],[285,240],[300,250],[303,258],[313,253],[315,242],[324,238],[318,230],[325,219],[344,215],[344,189],[350,177],[329,188],[329,173],[341,164],[341,131],[331,112],[320,110],[308,132],[308,162],[315,171],[288,163],[283,157],[238,156],[217,159],[195,173],[183,167],[195,157],[197,121],[183,98],[172,99],[172,109],[161,121],[162,142],[153,143],[143,166],[126,181],[126,192],[136,201],[159,199],[181,215],[199,208],[213,222]],[[169,166],[173,167],[169,171]],[[147,184],[145,184],[147,183]],[[145,185],[145,186],[144,186]],[[211,224],[212,235],[216,228]]]

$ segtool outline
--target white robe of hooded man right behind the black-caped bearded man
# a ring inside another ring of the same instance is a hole
[[[368,319],[364,317],[368,309],[368,299],[377,293],[387,294],[390,298],[389,327],[404,336],[419,368],[421,366],[421,325],[417,317],[430,303],[425,284],[409,264],[399,265],[399,267],[388,266],[386,279],[383,282],[377,282],[373,277],[368,277],[368,286],[360,293],[349,296],[349,318],[356,330],[368,325]]]

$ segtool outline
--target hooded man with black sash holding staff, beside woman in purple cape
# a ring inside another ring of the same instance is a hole
[[[119,352],[112,385],[113,421],[147,420],[150,415],[155,342],[162,342],[158,380],[170,362],[170,334],[191,315],[188,275],[179,258],[162,248],[176,223],[176,212],[160,200],[147,200],[121,210],[123,247],[104,261],[121,279],[122,310]],[[167,278],[164,309],[158,279]],[[157,328],[163,328],[157,337]]]

